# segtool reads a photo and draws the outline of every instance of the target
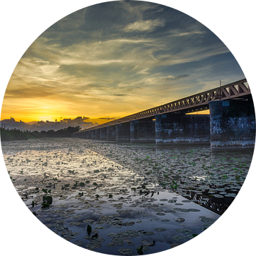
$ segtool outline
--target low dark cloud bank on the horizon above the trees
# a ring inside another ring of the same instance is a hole
[[[34,121],[34,122],[22,122],[21,120],[18,122],[13,117],[10,119],[1,120],[1,127],[5,127],[6,129],[20,129],[20,130],[28,130],[28,131],[48,131],[50,129],[58,130],[66,127],[76,127],[80,126],[82,129],[91,127],[92,125],[98,124],[97,122],[87,122],[89,117],[75,117],[75,119],[65,118],[60,120],[59,122],[55,119],[55,122],[45,121]]]

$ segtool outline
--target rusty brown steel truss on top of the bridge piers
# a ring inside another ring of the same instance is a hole
[[[166,114],[171,112],[193,112],[208,110],[208,102],[214,100],[230,100],[235,98],[245,98],[252,95],[250,85],[247,79],[242,79],[237,82],[232,82],[228,85],[216,87],[206,92],[201,92],[196,95],[184,97],[181,100],[175,100],[158,107],[152,107],[149,110],[144,110],[135,114],[130,114],[126,117],[115,119],[104,124],[99,124],[79,132],[90,131],[92,129],[99,129],[114,124],[129,122],[131,120],[144,119],[146,117],[154,117],[155,114]],[[75,132],[75,133],[79,133]]]

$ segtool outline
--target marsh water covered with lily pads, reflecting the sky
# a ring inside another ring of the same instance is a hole
[[[78,138],[1,142],[1,150],[31,218],[108,255],[164,252],[203,233],[233,203],[254,154]]]

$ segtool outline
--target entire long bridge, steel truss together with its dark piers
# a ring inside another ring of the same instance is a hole
[[[188,114],[210,110],[210,114]],[[96,125],[72,137],[156,144],[210,142],[255,146],[256,117],[247,79]]]

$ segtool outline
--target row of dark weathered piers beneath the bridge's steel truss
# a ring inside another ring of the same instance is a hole
[[[209,102],[210,114],[155,114],[73,134],[111,142],[156,144],[210,143],[212,148],[255,146],[256,117],[252,97]]]

